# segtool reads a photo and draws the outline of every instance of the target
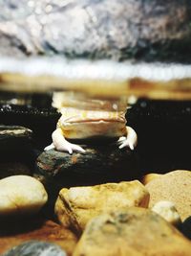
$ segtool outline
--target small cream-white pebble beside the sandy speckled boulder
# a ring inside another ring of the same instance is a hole
[[[163,219],[173,225],[180,224],[180,214],[172,201],[161,200],[158,201],[152,208],[153,212],[159,214]]]

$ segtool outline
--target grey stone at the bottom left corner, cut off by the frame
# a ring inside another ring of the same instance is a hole
[[[3,256],[66,256],[67,254],[56,244],[47,242],[29,241],[19,244]]]

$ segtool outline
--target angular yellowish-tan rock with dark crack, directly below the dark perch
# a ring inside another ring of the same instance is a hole
[[[138,181],[107,183],[92,187],[62,189],[55,203],[55,214],[65,227],[81,232],[100,213],[119,207],[147,207],[149,194]]]

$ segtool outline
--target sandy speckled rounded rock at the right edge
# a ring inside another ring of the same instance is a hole
[[[160,200],[172,201],[181,221],[191,215],[191,172],[178,170],[161,175],[146,184],[150,193],[149,207]]]

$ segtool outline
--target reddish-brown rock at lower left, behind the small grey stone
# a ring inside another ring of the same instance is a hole
[[[1,222],[1,255],[12,247],[28,241],[46,241],[57,244],[66,251],[67,255],[72,255],[77,239],[70,230],[60,226],[55,221],[47,220],[42,215],[35,216],[32,219],[17,219]],[[21,256],[19,253],[17,255]]]

